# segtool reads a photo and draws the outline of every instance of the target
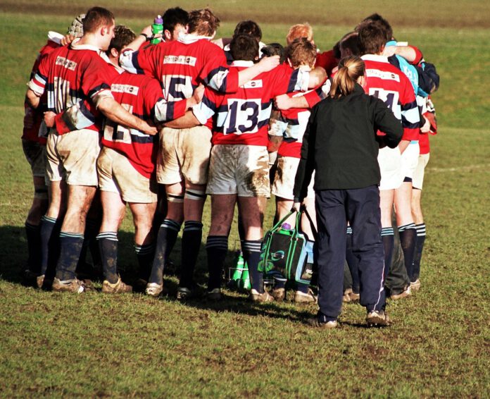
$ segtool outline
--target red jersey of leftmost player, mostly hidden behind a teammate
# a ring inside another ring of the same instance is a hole
[[[44,44],[42,49],[39,50],[39,54],[37,54],[36,61],[34,61],[34,65],[32,66],[30,73],[30,80],[34,78],[34,75],[37,73],[41,60],[51,54],[51,51],[58,47],[60,47],[60,44],[48,39],[48,42]],[[37,109],[32,109],[27,102],[24,102],[25,116],[22,133],[22,138],[24,140],[39,142],[42,145],[46,144],[46,137],[39,137],[39,128],[44,118],[43,111],[46,108],[47,102],[48,96],[46,92],[44,92],[42,97],[39,99],[39,107]]]

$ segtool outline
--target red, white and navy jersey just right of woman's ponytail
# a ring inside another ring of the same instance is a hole
[[[366,94],[382,99],[403,125],[402,140],[418,140],[420,114],[410,80],[387,57],[366,54]]]

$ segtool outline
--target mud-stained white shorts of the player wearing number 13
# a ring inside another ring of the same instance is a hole
[[[207,194],[270,197],[269,154],[258,145],[215,145]]]

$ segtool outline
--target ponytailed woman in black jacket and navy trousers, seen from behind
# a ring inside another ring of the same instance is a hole
[[[318,220],[318,305],[314,326],[333,328],[342,306],[346,225],[360,260],[360,304],[368,325],[389,325],[384,312],[384,251],[379,212],[379,147],[396,147],[403,129],[379,99],[364,93],[358,56],[339,63],[329,97],[311,111],[294,185],[301,202],[315,170]],[[380,132],[378,132],[378,130]],[[297,206],[297,204],[296,204]]]

